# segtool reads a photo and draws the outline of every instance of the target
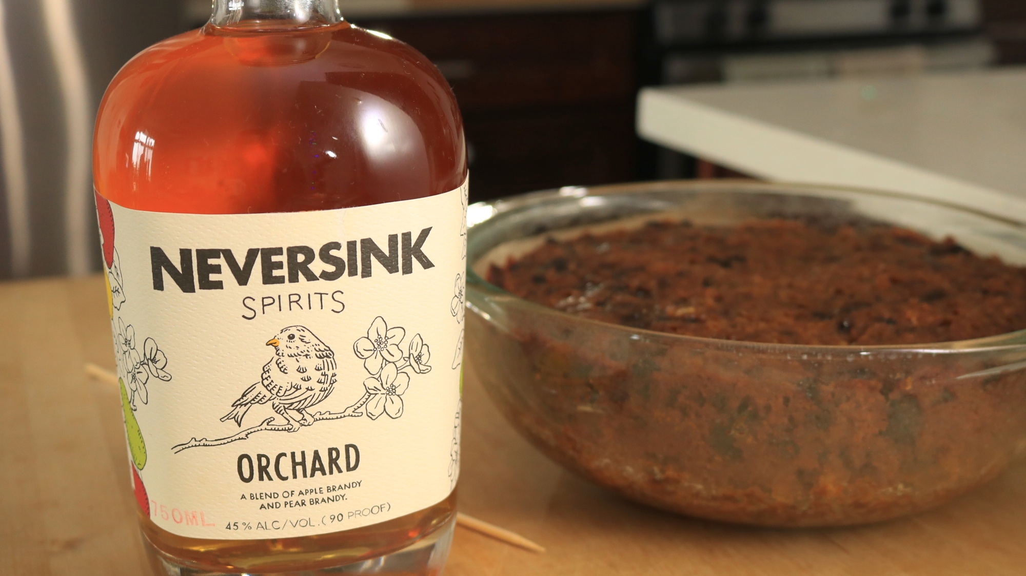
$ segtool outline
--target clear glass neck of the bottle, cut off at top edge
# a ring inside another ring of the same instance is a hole
[[[307,28],[342,22],[339,0],[213,0],[219,28]]]

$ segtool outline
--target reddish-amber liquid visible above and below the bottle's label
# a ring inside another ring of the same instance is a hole
[[[219,0],[215,10],[226,4]],[[316,6],[303,22],[275,7],[239,8],[234,22],[215,12],[211,24],[129,61],[97,117],[97,193],[136,210],[239,214],[365,206],[459,188],[467,177],[463,125],[437,69],[411,47],[323,17]],[[453,492],[364,528],[254,540],[177,536],[142,509],[140,521],[153,547],[183,566],[266,573],[399,550],[455,509]]]

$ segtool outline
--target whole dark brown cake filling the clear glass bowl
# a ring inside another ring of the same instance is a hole
[[[656,222],[549,240],[488,279],[627,336],[508,306],[468,355],[537,446],[661,508],[764,526],[936,506],[1026,451],[1026,373],[1004,353],[904,344],[1026,328],[1026,271],[869,221]]]

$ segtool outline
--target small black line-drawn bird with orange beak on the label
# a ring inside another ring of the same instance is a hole
[[[261,381],[246,388],[221,421],[235,420],[242,427],[250,407],[270,402],[271,408],[288,420],[290,431],[313,424],[308,410],[334,389],[334,353],[304,326],[282,329],[267,345],[274,346],[275,356],[264,365]]]

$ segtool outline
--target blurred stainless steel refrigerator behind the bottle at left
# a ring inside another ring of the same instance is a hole
[[[0,0],[0,278],[98,270],[100,98],[187,22],[179,0]]]

